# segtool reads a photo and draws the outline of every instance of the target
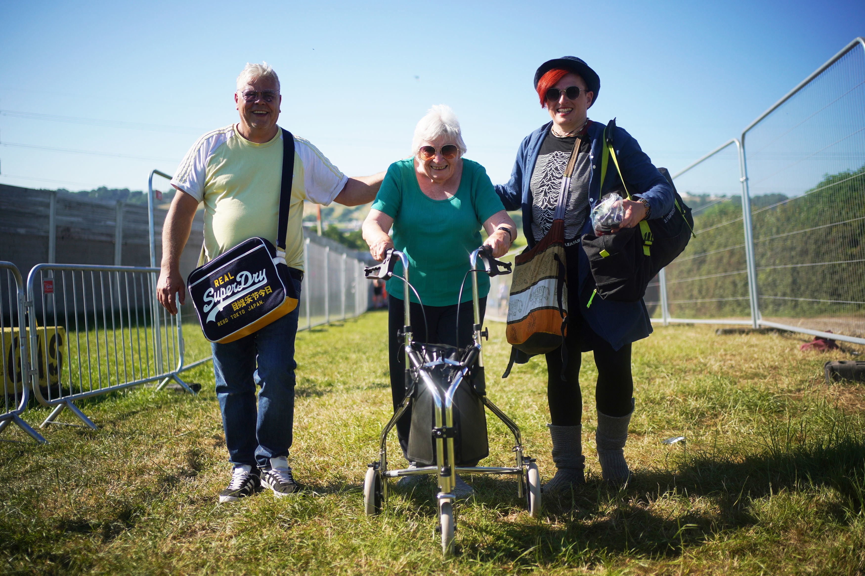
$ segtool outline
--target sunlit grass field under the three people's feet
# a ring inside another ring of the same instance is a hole
[[[0,438],[24,443],[0,442],[3,573],[865,573],[865,386],[823,380],[823,362],[849,353],[800,352],[798,335],[657,328],[634,345],[636,475],[620,490],[599,479],[589,353],[585,488],[535,520],[513,478],[469,478],[477,498],[458,506],[459,555],[443,561],[432,484],[362,513],[390,413],[386,325],[368,313],[298,334],[298,497],[217,503],[228,465],[209,364],[186,374],[197,397],[141,388],[83,402],[95,432],[52,427],[35,446],[9,427]],[[500,373],[503,325],[490,332],[486,364]],[[545,377],[533,361],[488,391],[549,478]],[[686,446],[660,443],[679,434]],[[484,462],[509,463],[510,448],[490,417]]]

